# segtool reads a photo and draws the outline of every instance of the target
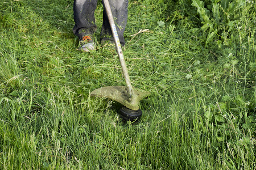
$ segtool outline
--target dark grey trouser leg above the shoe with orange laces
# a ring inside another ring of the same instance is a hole
[[[74,21],[73,33],[81,39],[85,35],[93,35],[96,31],[94,11],[97,7],[97,0],[74,0]]]

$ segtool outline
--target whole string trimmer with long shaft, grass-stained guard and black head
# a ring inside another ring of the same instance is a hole
[[[120,109],[120,114],[123,120],[126,121],[134,121],[138,120],[139,117],[142,115],[141,109],[139,109],[139,101],[144,97],[150,95],[150,92],[145,92],[141,90],[136,90],[131,86],[130,76],[127,71],[125,58],[123,56],[122,47],[119,41],[119,37],[117,34],[117,27],[114,24],[114,19],[112,15],[112,11],[110,9],[109,1],[104,0],[106,13],[108,15],[109,24],[113,33],[115,47],[117,48],[117,53],[119,56],[119,61],[121,63],[123,76],[125,78],[125,86],[108,86],[108,87],[101,87],[93,92],[91,92],[91,96],[97,97],[105,97],[117,101],[121,103],[124,107]]]

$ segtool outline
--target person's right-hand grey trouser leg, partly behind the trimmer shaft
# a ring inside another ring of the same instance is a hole
[[[104,2],[102,1],[104,5]],[[115,25],[117,26],[117,33],[121,45],[125,45],[125,38],[123,37],[123,32],[125,32],[125,27],[127,23],[128,15],[128,0],[109,0],[110,8],[112,10],[112,15],[114,18]],[[103,11],[103,24],[101,28],[101,41],[112,41],[114,38],[112,36],[112,31],[109,24],[108,15],[106,14],[105,6]]]

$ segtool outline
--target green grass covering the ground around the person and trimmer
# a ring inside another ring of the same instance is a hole
[[[255,4],[205,1],[206,29],[192,2],[129,2],[127,68],[152,94],[132,124],[89,96],[125,81],[112,50],[76,50],[73,1],[1,1],[0,169],[255,169]]]

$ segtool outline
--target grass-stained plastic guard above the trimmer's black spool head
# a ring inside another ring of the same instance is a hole
[[[138,111],[139,109],[139,101],[144,97],[150,95],[150,92],[137,90],[134,88],[134,94],[131,97],[132,100],[130,101],[130,97],[127,94],[127,87],[125,86],[108,86],[108,87],[101,87],[93,92],[90,93],[91,96],[96,97],[105,97],[117,101],[121,103],[126,108],[129,108],[133,111]]]

